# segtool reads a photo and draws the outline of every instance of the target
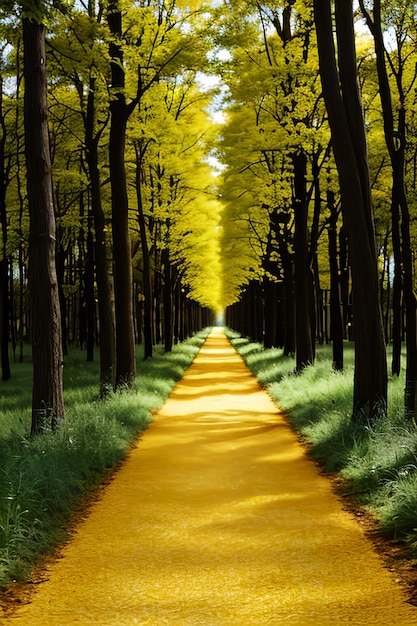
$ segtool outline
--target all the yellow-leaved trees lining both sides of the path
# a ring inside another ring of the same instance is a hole
[[[415,8],[1,3],[1,363],[31,344],[33,433],[64,418],[69,344],[98,346],[105,395],[137,343],[223,310],[298,371],[354,340],[355,419],[405,342],[415,416]]]

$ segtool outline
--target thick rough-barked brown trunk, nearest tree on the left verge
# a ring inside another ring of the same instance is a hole
[[[61,317],[46,104],[45,32],[23,19],[24,122],[30,216],[29,289],[33,356],[32,434],[64,418]]]

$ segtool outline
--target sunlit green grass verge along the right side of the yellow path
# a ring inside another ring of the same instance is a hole
[[[387,416],[352,421],[352,344],[345,345],[343,372],[332,369],[331,346],[317,346],[315,364],[295,374],[295,360],[282,350],[226,332],[309,454],[326,471],[339,472],[345,495],[369,509],[382,532],[417,557],[417,426],[404,416],[404,374],[388,383]]]

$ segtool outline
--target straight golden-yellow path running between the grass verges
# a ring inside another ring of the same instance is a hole
[[[417,609],[214,331],[13,626],[412,626]]]

